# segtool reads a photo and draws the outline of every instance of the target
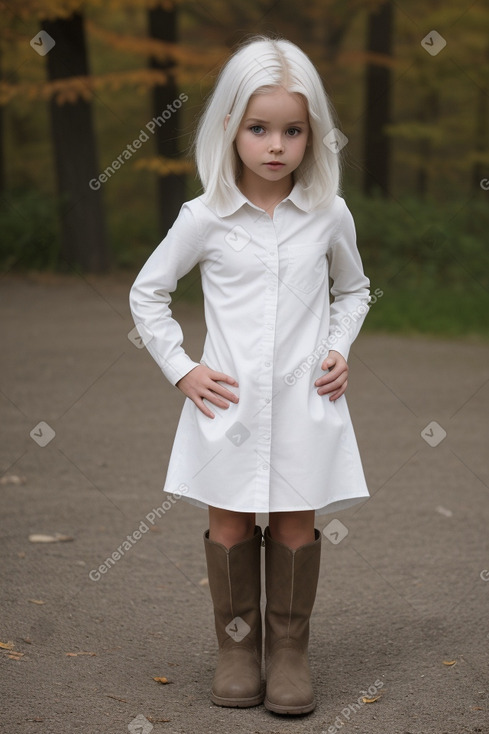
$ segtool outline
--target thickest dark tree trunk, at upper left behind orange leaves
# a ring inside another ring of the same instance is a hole
[[[56,42],[46,56],[50,81],[88,75],[83,17],[45,20],[42,28]],[[108,267],[102,191],[92,190],[99,166],[89,102],[58,105],[51,99],[51,129],[61,198],[61,255],[72,267],[102,272]]]

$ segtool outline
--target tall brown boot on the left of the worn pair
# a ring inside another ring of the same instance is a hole
[[[219,657],[211,701],[247,708],[262,703],[260,610],[261,528],[252,538],[226,548],[204,533],[209,588],[214,604]]]

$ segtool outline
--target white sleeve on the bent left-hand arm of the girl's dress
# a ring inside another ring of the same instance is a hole
[[[178,280],[201,259],[199,227],[188,204],[158,245],[131,288],[129,303],[146,348],[165,377],[175,385],[198,366],[182,347],[183,333],[170,310]]]

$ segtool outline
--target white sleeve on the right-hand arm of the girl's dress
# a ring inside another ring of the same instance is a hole
[[[369,309],[370,281],[363,272],[353,217],[343,199],[341,202],[343,214],[328,252],[334,299],[330,306],[328,346],[348,359]]]

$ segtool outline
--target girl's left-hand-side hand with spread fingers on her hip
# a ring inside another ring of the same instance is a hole
[[[219,408],[229,408],[229,402],[237,403],[239,398],[230,390],[226,390],[219,382],[227,382],[228,385],[238,387],[234,377],[225,375],[223,372],[215,372],[209,367],[201,364],[187,372],[177,383],[179,388],[204,415],[214,418],[214,413],[204,403],[204,398],[217,405]]]

